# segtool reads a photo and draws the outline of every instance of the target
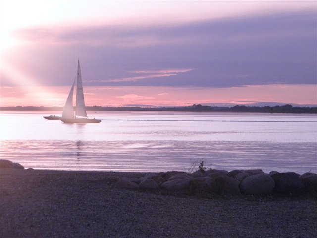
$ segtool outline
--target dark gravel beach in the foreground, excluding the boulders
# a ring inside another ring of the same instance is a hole
[[[1,238],[316,238],[307,197],[120,190],[140,173],[0,170]]]

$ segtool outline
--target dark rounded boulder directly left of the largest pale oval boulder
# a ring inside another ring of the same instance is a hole
[[[240,194],[239,184],[240,182],[237,179],[223,174],[211,183],[211,192],[218,194]]]

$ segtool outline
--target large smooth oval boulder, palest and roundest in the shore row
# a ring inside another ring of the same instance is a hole
[[[264,196],[273,192],[275,182],[268,174],[256,174],[246,177],[240,183],[240,190],[245,194]]]

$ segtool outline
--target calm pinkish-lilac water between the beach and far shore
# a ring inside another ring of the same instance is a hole
[[[317,173],[317,117],[306,114],[88,112],[99,124],[0,114],[0,158],[50,170],[216,169]]]

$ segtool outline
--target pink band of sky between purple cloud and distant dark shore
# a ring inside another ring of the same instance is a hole
[[[1,106],[64,106],[70,87],[1,87]],[[280,102],[316,104],[316,85],[254,85],[231,88],[84,87],[87,106],[188,106]]]

